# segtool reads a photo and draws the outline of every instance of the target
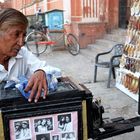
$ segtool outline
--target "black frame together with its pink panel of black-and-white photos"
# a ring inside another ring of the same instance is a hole
[[[82,137],[81,110],[6,115],[5,120],[9,122],[9,128],[5,129],[6,137],[10,140],[61,140],[73,136],[77,140]]]

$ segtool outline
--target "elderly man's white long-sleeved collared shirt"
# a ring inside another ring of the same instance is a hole
[[[61,75],[60,69],[47,65],[45,61],[39,60],[27,48],[22,47],[16,57],[10,58],[8,71],[0,64],[0,81],[16,81],[21,75],[29,78],[38,69],[44,70],[46,74]]]

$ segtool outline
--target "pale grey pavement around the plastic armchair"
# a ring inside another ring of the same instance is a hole
[[[84,84],[95,98],[100,98],[104,106],[103,118],[124,117],[125,119],[136,117],[138,103],[115,87],[112,78],[111,87],[107,88],[108,69],[98,70],[97,82],[93,83],[94,63],[97,53],[109,48],[90,45],[81,49],[80,54],[72,56],[66,49],[46,51],[39,58],[45,60],[49,65],[62,70],[63,76],[70,76],[78,83]],[[107,59],[107,58],[104,58]],[[106,140],[140,140],[139,128],[135,131],[125,133]]]

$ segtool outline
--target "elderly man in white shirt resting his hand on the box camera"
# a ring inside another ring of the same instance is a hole
[[[28,79],[24,91],[30,91],[28,101],[37,102],[42,91],[44,98],[47,95],[50,67],[23,47],[27,26],[27,18],[18,10],[0,11],[0,81],[16,81],[24,75]]]

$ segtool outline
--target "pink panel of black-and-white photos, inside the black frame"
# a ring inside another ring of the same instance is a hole
[[[9,121],[10,140],[77,140],[78,111]]]

